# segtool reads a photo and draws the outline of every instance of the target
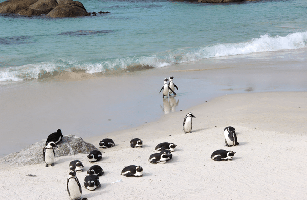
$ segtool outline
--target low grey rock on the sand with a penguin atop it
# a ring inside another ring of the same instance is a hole
[[[11,153],[0,159],[0,164],[9,164],[13,166],[35,165],[43,162],[43,147],[45,147],[46,139],[39,141],[25,149]],[[98,150],[94,145],[83,141],[81,137],[75,135],[64,135],[62,141],[55,148],[55,157],[75,155],[78,153],[89,154],[93,150]],[[55,159],[56,162],[56,159]]]

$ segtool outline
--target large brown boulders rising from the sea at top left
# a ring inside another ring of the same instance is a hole
[[[47,14],[51,17],[75,17],[87,14],[83,4],[73,0],[7,0],[0,3],[0,13],[26,16]]]

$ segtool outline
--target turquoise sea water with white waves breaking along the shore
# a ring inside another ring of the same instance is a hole
[[[205,4],[81,1],[76,18],[0,15],[0,82],[155,68],[210,57],[307,47],[307,1]]]

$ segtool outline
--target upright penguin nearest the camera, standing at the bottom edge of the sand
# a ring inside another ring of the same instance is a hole
[[[66,186],[68,195],[72,200],[81,198],[82,188],[74,170],[69,172]]]

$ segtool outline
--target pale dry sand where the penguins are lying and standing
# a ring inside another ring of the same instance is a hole
[[[307,92],[226,95],[188,110],[164,115],[159,122],[111,133],[116,146],[101,150],[103,159],[89,163],[85,154],[56,157],[55,166],[0,166],[2,199],[70,199],[66,191],[69,162],[80,159],[77,173],[88,199],[306,199]],[[182,122],[192,112],[193,132]],[[224,127],[236,129],[235,147],[224,147]],[[110,137],[105,136],[105,137]],[[130,139],[143,139],[133,149]],[[85,138],[98,147],[101,137]],[[177,144],[173,159],[151,164],[161,142]],[[212,161],[218,149],[236,152],[232,161]],[[83,181],[90,166],[105,174],[101,188],[89,191]],[[143,177],[120,175],[127,165],[141,165]],[[27,174],[36,175],[28,177]]]

